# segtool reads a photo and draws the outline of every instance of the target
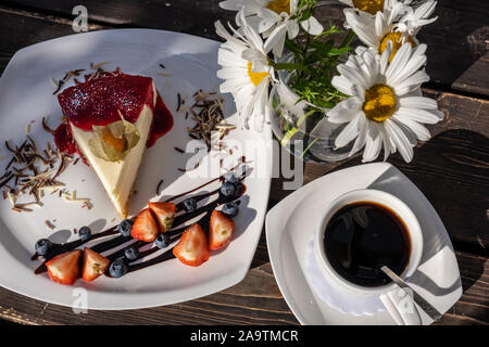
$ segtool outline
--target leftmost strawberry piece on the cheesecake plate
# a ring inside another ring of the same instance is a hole
[[[60,254],[46,262],[49,278],[61,284],[73,284],[79,275],[79,256],[82,250],[75,249]]]

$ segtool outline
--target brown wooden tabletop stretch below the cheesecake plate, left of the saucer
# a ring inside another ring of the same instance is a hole
[[[166,307],[75,314],[0,290],[0,318],[25,324],[292,324],[297,323],[275,284],[269,265],[251,270],[240,284],[221,293]]]

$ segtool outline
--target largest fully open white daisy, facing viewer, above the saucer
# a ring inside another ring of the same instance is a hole
[[[335,141],[342,147],[354,140],[350,155],[364,147],[363,162],[377,158],[384,147],[384,160],[399,151],[405,162],[413,158],[417,140],[426,141],[429,131],[422,124],[443,118],[435,100],[421,97],[421,85],[429,80],[422,70],[426,44],[412,48],[405,43],[389,64],[392,44],[377,57],[368,49],[358,50],[346,64],[338,65],[340,76],[333,85],[349,99],[329,113],[331,123],[347,126]]]

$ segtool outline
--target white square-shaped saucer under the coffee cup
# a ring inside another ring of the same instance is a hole
[[[423,193],[388,163],[365,164],[326,175],[283,200],[266,216],[266,241],[275,279],[287,304],[302,324],[394,324],[387,311],[371,316],[341,312],[317,296],[304,271],[315,223],[325,206],[351,190],[372,188],[401,198],[423,229],[424,252],[412,287],[441,313],[462,295],[462,283],[447,230]],[[423,324],[432,320],[421,309]]]

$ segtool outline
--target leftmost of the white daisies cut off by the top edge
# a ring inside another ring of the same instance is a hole
[[[299,0],[227,0],[220,5],[231,11],[242,9],[249,15],[250,24],[266,38],[266,52],[273,51],[276,57],[280,57],[286,36],[289,39],[296,38],[299,25],[311,35],[323,33],[323,25],[313,16],[299,22],[298,2]]]

